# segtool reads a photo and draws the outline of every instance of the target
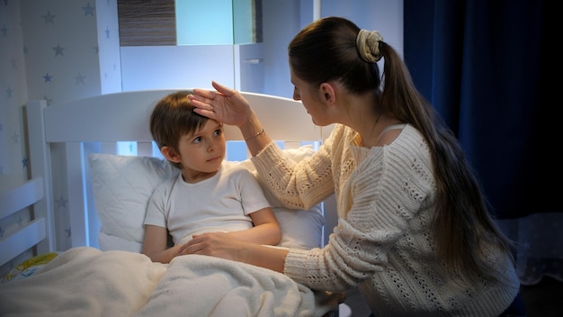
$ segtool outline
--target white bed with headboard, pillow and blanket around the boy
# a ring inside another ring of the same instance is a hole
[[[25,107],[31,178],[0,193],[0,220],[29,209],[31,221],[0,238],[0,315],[338,316],[343,294],[308,289],[282,274],[202,256],[152,263],[140,254],[144,208],[174,168],[158,157],[148,117],[176,89],[121,92]],[[302,104],[243,93],[273,140],[290,158],[307,159],[330,132]],[[242,140],[226,127],[229,144]],[[121,154],[126,142],[134,153]],[[255,172],[248,159],[229,160]],[[58,249],[54,186],[67,192],[71,245]],[[280,247],[326,243],[334,197],[311,210],[287,210],[264,191],[281,222]],[[16,261],[26,250],[31,258]]]

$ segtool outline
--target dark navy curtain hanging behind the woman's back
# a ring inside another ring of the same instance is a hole
[[[563,212],[556,4],[404,0],[407,67],[499,219]]]

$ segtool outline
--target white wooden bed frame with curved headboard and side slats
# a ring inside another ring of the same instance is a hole
[[[148,131],[150,112],[157,100],[177,90],[114,93],[51,106],[45,100],[28,102],[31,179],[0,193],[0,219],[25,208],[31,208],[32,216],[19,231],[0,238],[0,266],[29,249],[33,249],[33,255],[62,251],[55,236],[54,181],[67,190],[71,247],[96,245],[99,228],[92,223],[99,221],[94,221],[97,216],[89,184],[88,155],[116,154],[118,141],[135,141],[139,156],[153,156],[158,150]],[[273,95],[243,95],[253,105],[268,134],[273,140],[284,141],[286,148],[299,147],[301,141],[320,142],[332,129],[311,122],[300,102]],[[225,133],[228,140],[242,140],[237,128],[226,126]],[[329,209],[335,209],[334,197],[324,202],[324,210]],[[336,213],[326,213],[329,214],[334,217],[326,217],[324,243],[336,224]]]

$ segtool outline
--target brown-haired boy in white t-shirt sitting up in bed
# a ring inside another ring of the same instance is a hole
[[[154,262],[181,255],[193,234],[223,231],[232,239],[276,245],[281,229],[262,187],[225,159],[223,126],[193,112],[188,91],[162,98],[150,131],[165,159],[181,173],[157,186],[145,216],[142,252]],[[174,247],[168,248],[168,234]]]

